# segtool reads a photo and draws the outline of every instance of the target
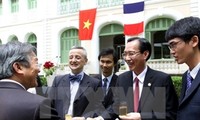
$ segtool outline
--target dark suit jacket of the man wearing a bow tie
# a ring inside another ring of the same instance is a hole
[[[84,74],[73,103],[74,117],[95,117],[95,110],[100,106],[100,99],[96,94],[99,86],[98,79]],[[49,97],[55,100],[55,107],[62,118],[68,112],[70,96],[69,74],[56,76]]]

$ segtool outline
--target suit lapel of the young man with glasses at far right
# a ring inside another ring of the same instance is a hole
[[[183,100],[180,102],[180,105],[186,100],[188,99],[189,96],[191,96],[191,94],[195,91],[195,89],[197,89],[199,87],[200,84],[200,70],[197,73],[197,76],[195,77],[195,79],[192,82],[192,85],[190,87],[190,89],[187,91],[187,94],[185,95],[185,97],[183,98]]]

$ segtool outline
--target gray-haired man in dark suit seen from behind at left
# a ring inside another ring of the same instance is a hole
[[[0,51],[0,120],[59,120],[49,99],[27,92],[40,72],[36,48],[15,41]]]

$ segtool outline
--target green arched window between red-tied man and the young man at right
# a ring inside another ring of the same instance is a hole
[[[145,38],[152,44],[151,59],[170,58],[170,50],[165,41],[166,30],[175,22],[170,18],[158,18],[150,21],[145,28]]]

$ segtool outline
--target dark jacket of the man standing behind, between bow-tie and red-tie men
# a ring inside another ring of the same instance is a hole
[[[100,81],[102,81],[102,75],[101,74],[98,74],[94,77],[99,79]],[[105,109],[107,109],[114,102],[113,91],[112,91],[113,89],[112,88],[116,86],[117,78],[118,78],[118,76],[116,74],[113,74],[111,81],[110,81],[110,84],[109,84],[108,92],[103,98],[102,104],[105,107]],[[102,87],[102,82],[101,82],[101,87]]]

